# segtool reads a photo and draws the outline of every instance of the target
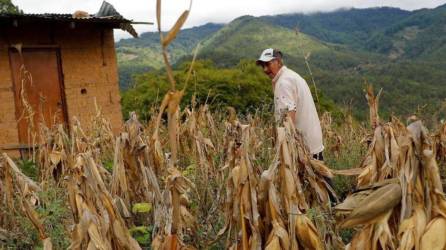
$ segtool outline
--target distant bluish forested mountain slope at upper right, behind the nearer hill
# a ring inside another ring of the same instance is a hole
[[[390,59],[441,60],[446,52],[446,5],[412,12],[383,7],[261,18],[298,28],[321,41],[386,54]]]

